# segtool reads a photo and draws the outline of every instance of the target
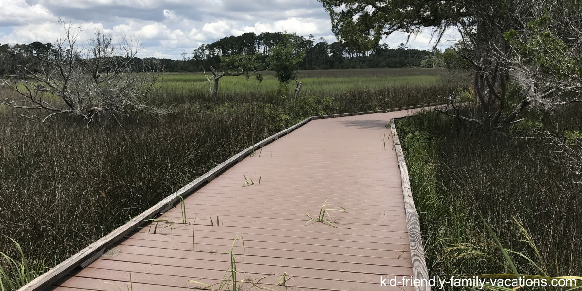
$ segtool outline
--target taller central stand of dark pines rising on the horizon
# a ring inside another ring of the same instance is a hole
[[[403,43],[396,48],[388,44],[378,44],[365,51],[349,47],[344,42],[328,44],[324,38],[315,42],[313,36],[302,37],[287,33],[245,33],[241,36],[224,37],[210,44],[194,49],[191,57],[183,54],[181,70],[199,71],[217,67],[222,56],[257,55],[258,61],[265,62],[277,44],[289,41],[297,54],[303,55],[297,64],[300,70],[363,69],[363,68],[404,68],[420,67],[421,62],[431,55],[430,51],[407,48]],[[167,70],[174,69],[164,63]],[[178,70],[180,70],[178,69]]]

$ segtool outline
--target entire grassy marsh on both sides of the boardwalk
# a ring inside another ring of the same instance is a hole
[[[156,117],[36,123],[2,108],[0,250],[26,265],[20,272],[0,259],[2,290],[307,116],[442,102],[470,84],[442,69],[312,70],[299,73],[303,89],[293,98],[293,83],[282,90],[262,74],[224,77],[216,99],[202,73],[164,74],[150,103],[175,111]],[[430,276],[581,273],[580,176],[551,140],[524,138],[549,131],[580,139],[580,108],[532,109],[509,136],[438,112],[399,120]]]

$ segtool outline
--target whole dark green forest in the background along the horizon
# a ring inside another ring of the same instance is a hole
[[[407,48],[400,43],[391,48],[388,44],[379,44],[367,51],[356,51],[342,42],[329,44],[324,38],[317,42],[313,36],[301,37],[285,33],[245,33],[241,36],[221,38],[210,44],[203,44],[190,54],[184,52],[182,59],[137,58],[140,61],[158,61],[165,72],[201,72],[203,69],[219,67],[221,56],[257,55],[257,61],[264,62],[271,54],[271,49],[283,39],[289,38],[297,49],[297,54],[303,56],[298,66],[301,70],[327,69],[367,69],[367,68],[418,68],[429,66],[425,60],[434,58],[435,51],[421,51]],[[0,76],[9,74],[9,59],[20,63],[31,64],[42,56],[48,56],[54,51],[51,42],[40,41],[30,44],[0,44]],[[423,61],[425,61],[423,63]],[[430,62],[430,68],[437,67]]]

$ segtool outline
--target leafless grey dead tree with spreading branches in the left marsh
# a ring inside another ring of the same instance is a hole
[[[116,45],[112,36],[95,30],[94,38],[83,46],[77,44],[81,28],[60,23],[65,36],[55,42],[55,51],[36,60],[34,68],[16,65],[17,73],[4,83],[20,98],[9,97],[0,104],[20,108],[22,116],[40,122],[62,114],[90,121],[105,114],[170,111],[145,102],[156,90],[162,68],[149,60],[137,62],[139,40],[122,37]]]

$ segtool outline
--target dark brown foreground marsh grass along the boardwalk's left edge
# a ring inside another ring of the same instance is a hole
[[[0,233],[21,244],[31,269],[52,266],[281,128],[262,105],[229,109],[183,107],[122,126],[0,114]],[[11,244],[0,237],[15,256]]]

